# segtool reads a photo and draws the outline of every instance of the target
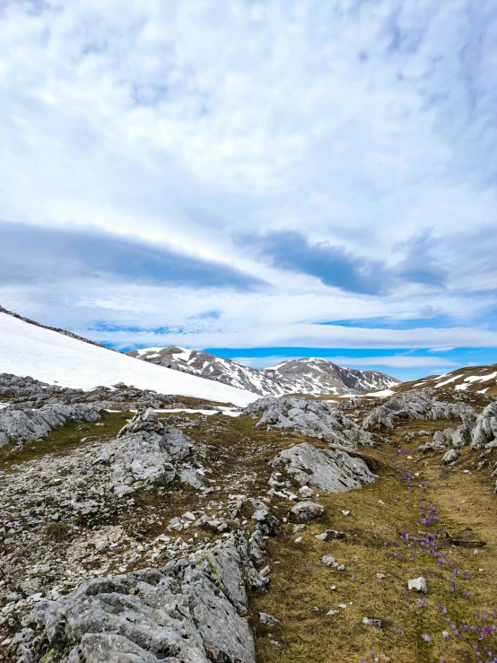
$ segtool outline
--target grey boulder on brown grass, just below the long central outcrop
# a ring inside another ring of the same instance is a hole
[[[338,449],[317,449],[308,442],[280,451],[269,464],[285,467],[297,484],[327,493],[346,493],[375,480],[362,458]]]

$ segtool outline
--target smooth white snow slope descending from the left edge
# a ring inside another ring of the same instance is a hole
[[[0,373],[27,376],[61,387],[92,389],[118,382],[161,394],[178,394],[247,406],[257,395],[220,382],[170,371],[110,352],[0,312]]]

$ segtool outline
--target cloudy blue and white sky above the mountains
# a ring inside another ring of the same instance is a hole
[[[497,362],[492,0],[0,0],[0,304],[117,349]]]

